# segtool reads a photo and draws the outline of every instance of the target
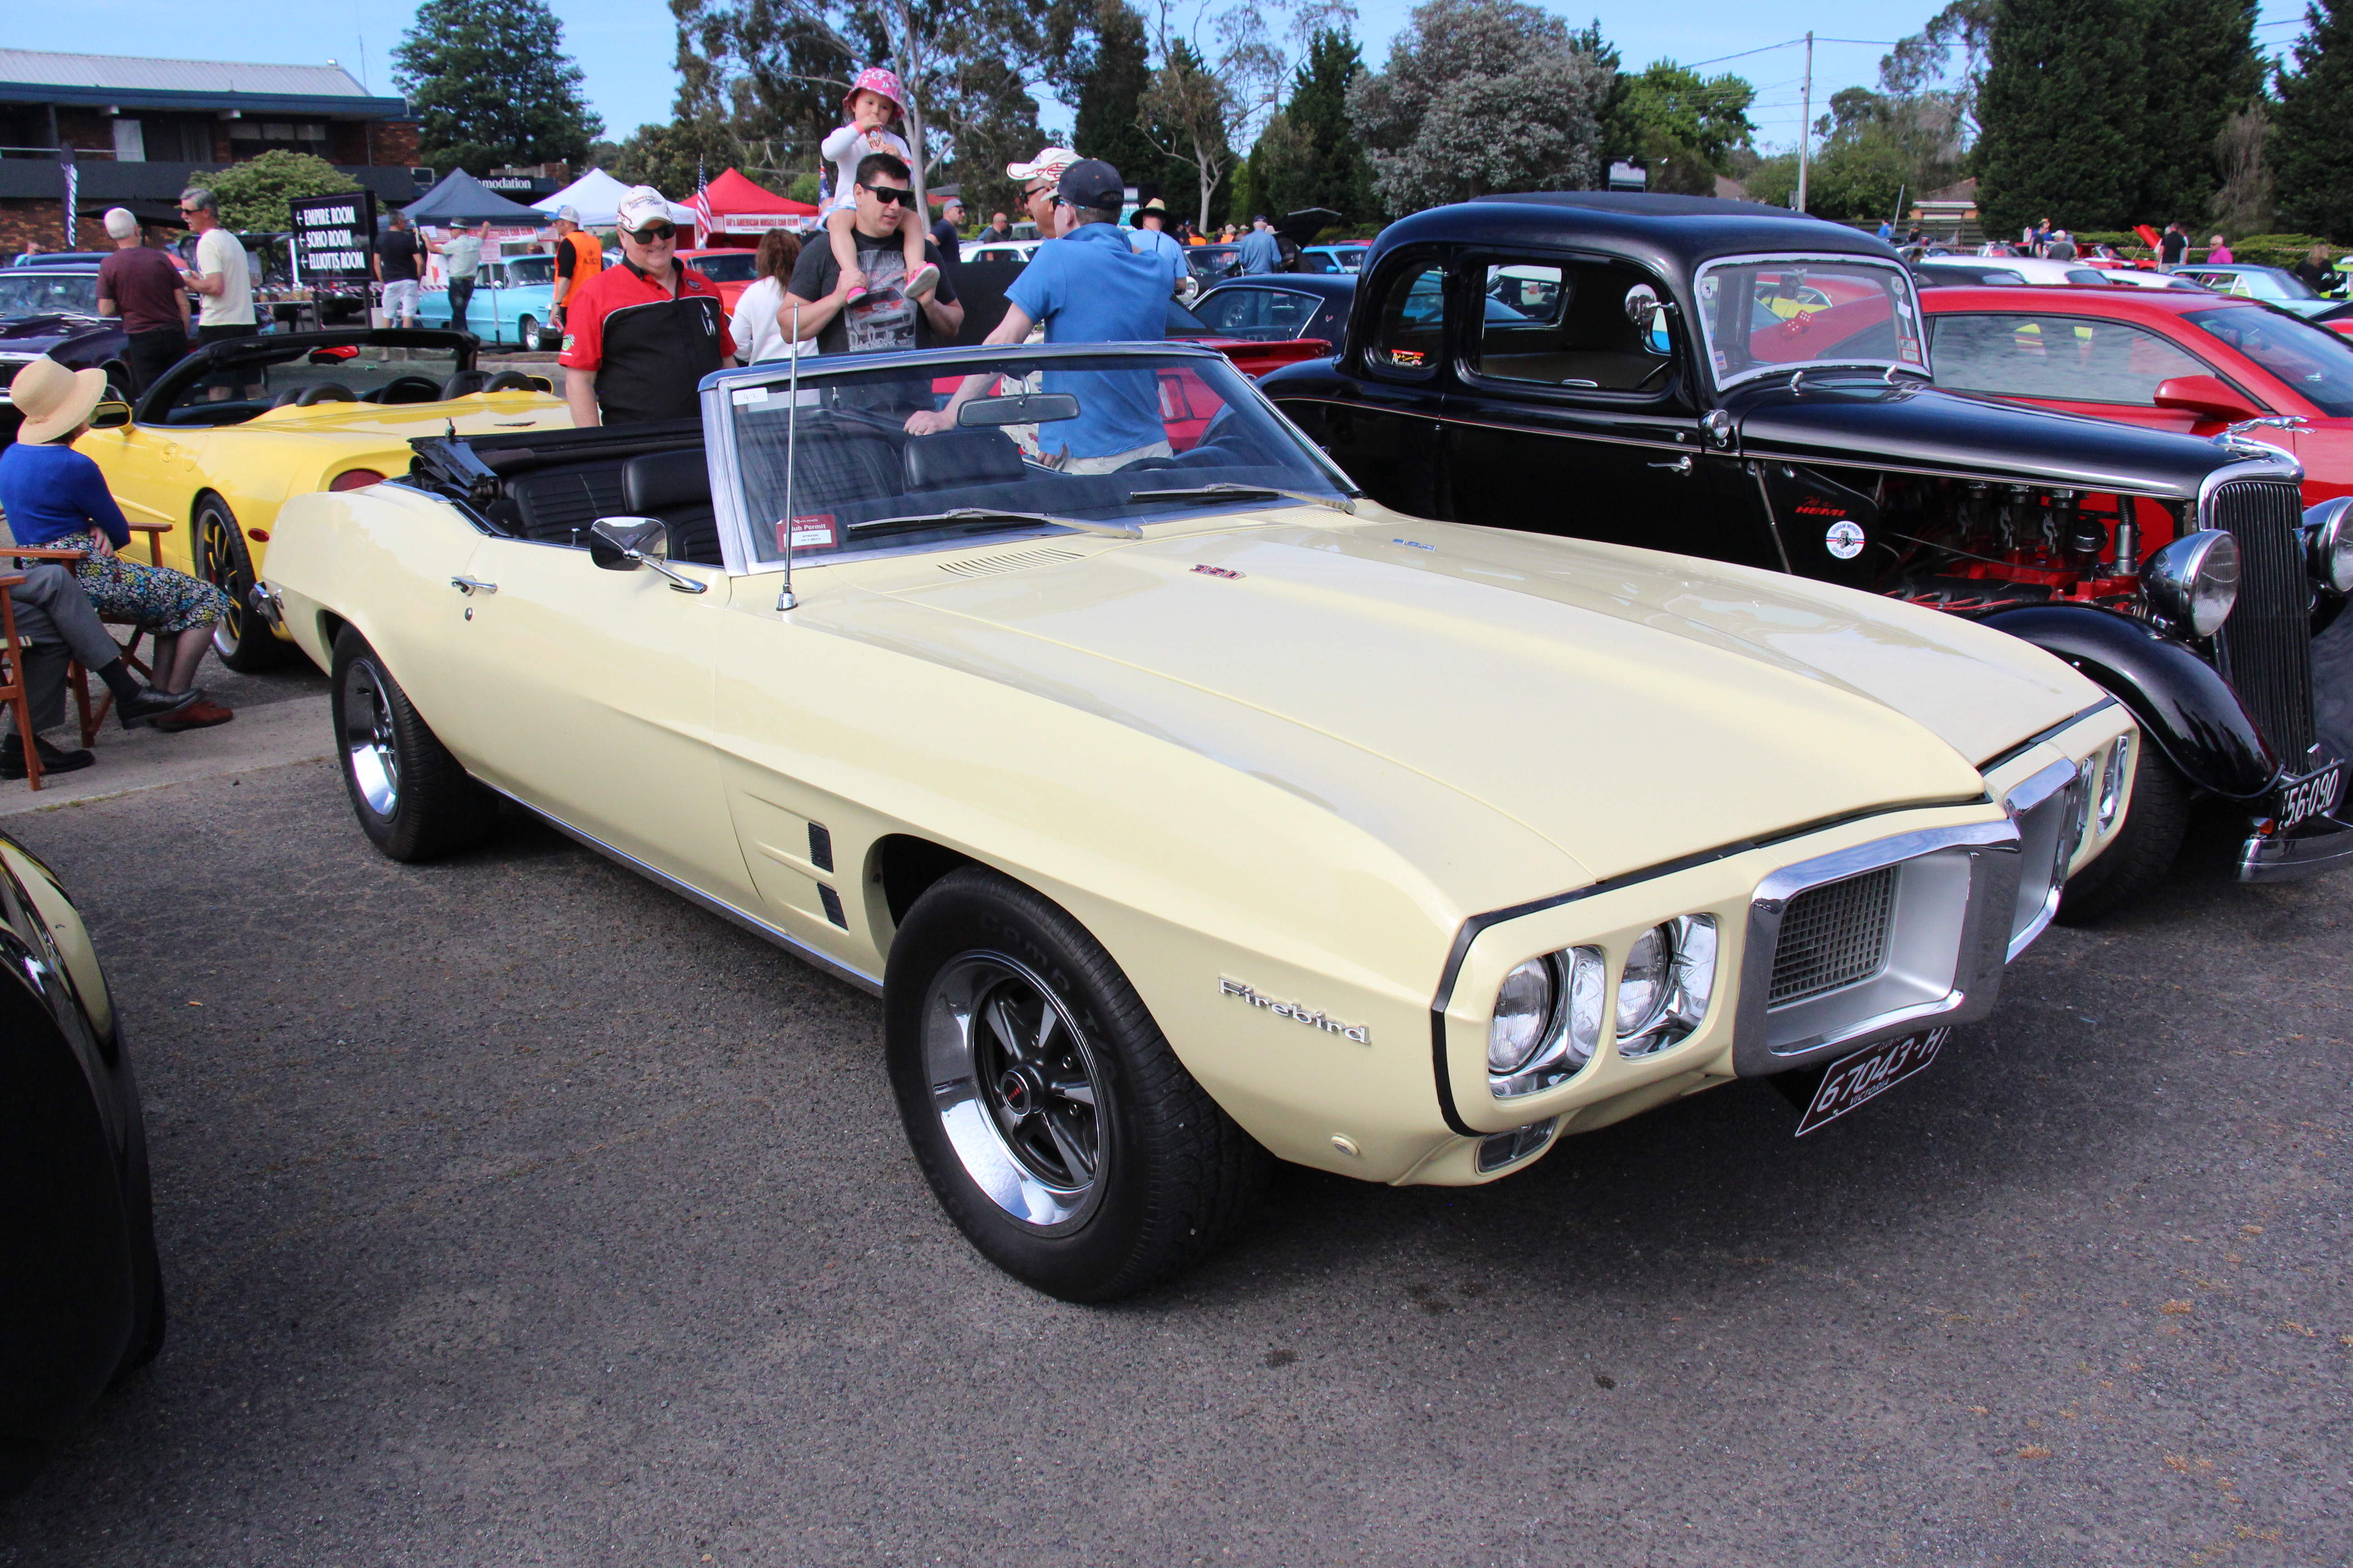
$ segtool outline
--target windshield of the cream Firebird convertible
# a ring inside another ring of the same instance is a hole
[[[831,562],[1056,531],[1049,520],[1127,529],[1287,505],[1268,491],[1355,494],[1217,355],[1005,348],[842,364],[800,367],[798,421],[786,374],[722,381],[755,562],[784,559],[786,538],[795,562]],[[958,388],[953,425],[908,433],[911,414]]]

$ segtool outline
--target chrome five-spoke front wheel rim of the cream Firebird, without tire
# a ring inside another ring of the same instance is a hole
[[[1064,1227],[1096,1204],[1108,1121],[1104,1072],[1071,1009],[1019,959],[965,952],[922,1006],[932,1110],[988,1199]]]

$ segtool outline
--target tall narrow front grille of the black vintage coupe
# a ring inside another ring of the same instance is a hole
[[[2301,489],[2278,480],[2219,487],[2205,517],[2238,541],[2238,607],[2214,637],[2221,672],[2273,755],[2297,771],[2313,748],[2313,590],[2301,522]]]

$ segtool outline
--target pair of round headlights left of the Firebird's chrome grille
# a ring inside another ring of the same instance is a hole
[[[1678,914],[1638,936],[1619,964],[1614,1009],[1600,947],[1527,959],[1497,990],[1487,1086],[1508,1100],[1560,1084],[1600,1051],[1605,1013],[1619,1056],[1654,1056],[1699,1027],[1713,994],[1713,914]]]

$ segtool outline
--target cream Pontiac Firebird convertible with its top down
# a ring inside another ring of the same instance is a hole
[[[2014,637],[1386,512],[1202,350],[416,447],[292,501],[261,595],[360,827],[433,856],[506,795],[880,992],[941,1206],[1075,1300],[1214,1246],[1266,1154],[1482,1182],[1744,1077],[1852,1110],[2129,790],[2125,710]]]

